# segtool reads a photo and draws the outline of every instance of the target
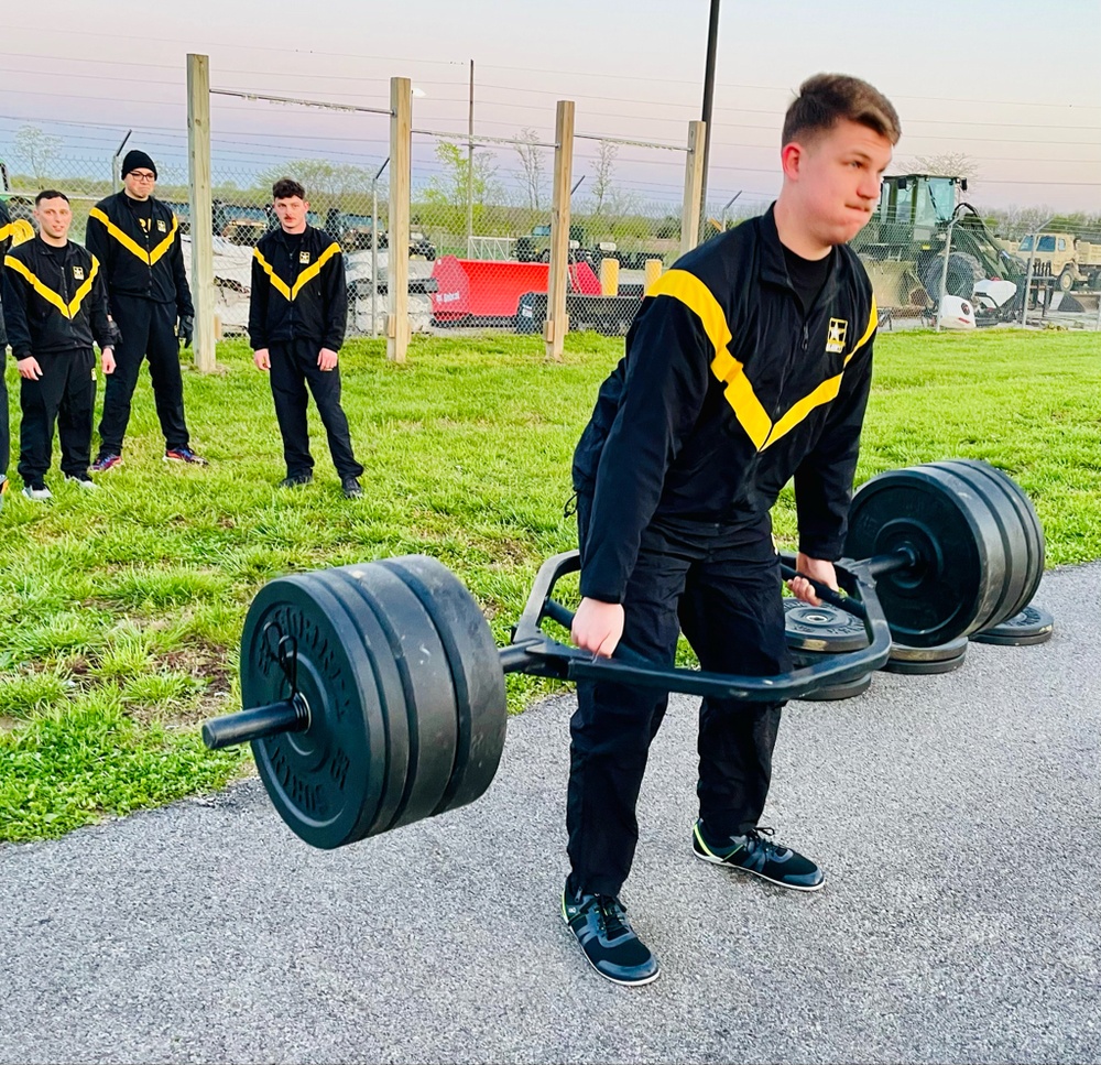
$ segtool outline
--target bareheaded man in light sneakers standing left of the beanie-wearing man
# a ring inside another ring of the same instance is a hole
[[[36,502],[53,498],[46,487],[54,425],[62,444],[62,472],[81,488],[88,476],[91,420],[96,406],[96,355],[103,373],[115,369],[112,329],[99,260],[68,239],[73,211],[68,197],[46,189],[34,199],[39,236],[4,257],[4,317],[19,367],[19,474],[23,495]],[[110,380],[110,377],[108,377]]]

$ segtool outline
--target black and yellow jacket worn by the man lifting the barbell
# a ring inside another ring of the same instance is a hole
[[[770,208],[646,292],[574,454],[593,495],[582,596],[622,601],[655,517],[767,523],[793,476],[799,550],[840,557],[876,314],[857,256],[831,259],[804,314]]]

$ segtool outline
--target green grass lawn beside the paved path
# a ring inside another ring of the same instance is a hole
[[[237,641],[265,580],[382,555],[440,557],[500,642],[538,563],[574,546],[569,460],[622,340],[567,340],[564,365],[530,337],[381,341],[342,359],[366,498],[349,502],[314,420],[313,485],[283,474],[268,384],[247,346],[220,376],[185,376],[208,469],[166,466],[143,379],[126,464],[51,506],[8,496],[0,514],[0,840],[57,836],[224,784],[247,751],[211,754],[197,722],[239,708]],[[1032,496],[1048,564],[1101,557],[1101,337],[885,334],[858,479],[951,457],[1007,470]],[[18,452],[18,377],[8,361]],[[312,414],[313,417],[313,414]],[[14,477],[15,458],[12,458]],[[794,534],[789,491],[776,511]],[[510,676],[513,709],[548,689]]]

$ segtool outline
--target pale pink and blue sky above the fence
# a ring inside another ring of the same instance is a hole
[[[573,99],[579,133],[680,145],[699,117],[709,10],[708,0],[51,0],[39,19],[30,2],[6,7],[0,156],[25,123],[80,160],[107,160],[133,129],[128,146],[166,171],[186,149],[187,52],[210,56],[216,87],[364,107],[388,107],[389,78],[410,77],[424,94],[414,126],[457,140],[473,59],[478,133],[526,127],[550,141],[555,101]],[[977,204],[1101,214],[1101,0],[1044,8],[723,0],[709,199],[772,198],[784,109],[803,78],[829,69],[894,101],[894,172],[914,156],[966,153],[980,173]],[[377,166],[389,151],[381,115],[216,97],[211,119],[216,177],[307,156]],[[415,143],[423,181],[435,164],[429,139]],[[578,142],[575,180],[591,172],[596,146]],[[516,169],[511,150],[497,157],[502,172]],[[615,162],[617,181],[643,199],[675,199],[683,174],[679,152],[624,146]]]

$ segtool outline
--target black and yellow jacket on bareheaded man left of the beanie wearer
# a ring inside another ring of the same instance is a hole
[[[4,318],[12,355],[64,355],[111,343],[99,260],[70,240],[63,256],[41,237],[4,256]]]

